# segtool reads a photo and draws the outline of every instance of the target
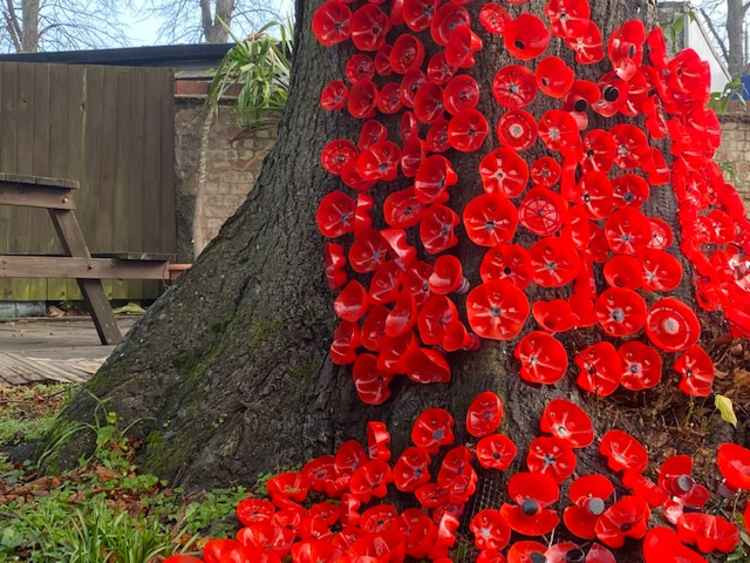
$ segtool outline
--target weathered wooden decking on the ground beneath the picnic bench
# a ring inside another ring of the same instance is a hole
[[[118,318],[125,333],[135,318]],[[82,383],[104,363],[114,346],[101,346],[86,317],[0,323],[0,383]]]

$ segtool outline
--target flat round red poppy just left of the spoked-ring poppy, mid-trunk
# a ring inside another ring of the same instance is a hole
[[[476,245],[494,247],[513,239],[518,225],[518,211],[504,196],[485,193],[464,207],[464,228]]]

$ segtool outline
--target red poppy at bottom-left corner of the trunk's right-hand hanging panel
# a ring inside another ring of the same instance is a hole
[[[559,340],[546,332],[532,331],[515,348],[521,362],[521,379],[554,385],[568,369],[568,354]]]

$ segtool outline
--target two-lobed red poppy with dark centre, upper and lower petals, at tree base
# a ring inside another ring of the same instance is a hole
[[[516,473],[508,481],[508,496],[515,504],[503,504],[500,512],[511,529],[524,536],[551,532],[560,519],[547,508],[560,498],[557,482],[541,473]]]

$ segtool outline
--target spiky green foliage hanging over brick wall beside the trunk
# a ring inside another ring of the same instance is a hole
[[[269,33],[278,31],[278,37]],[[235,110],[240,125],[262,129],[275,125],[286,106],[292,53],[290,22],[271,22],[226,54],[214,75],[208,105],[218,111],[222,98],[236,89]]]

